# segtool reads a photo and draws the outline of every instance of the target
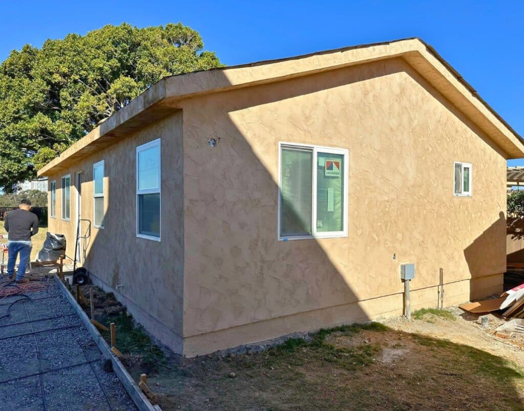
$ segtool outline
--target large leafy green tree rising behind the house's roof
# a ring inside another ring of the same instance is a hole
[[[12,51],[0,64],[0,187],[36,170],[162,77],[221,66],[178,24],[104,26]]]

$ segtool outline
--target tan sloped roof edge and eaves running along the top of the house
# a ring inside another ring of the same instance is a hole
[[[524,157],[524,139],[420,38],[370,43],[161,79],[38,171],[48,175],[176,112],[189,97],[283,81],[372,61],[402,58],[491,138],[508,159]]]

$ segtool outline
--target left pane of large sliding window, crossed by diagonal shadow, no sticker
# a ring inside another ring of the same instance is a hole
[[[311,235],[313,151],[282,147],[280,235]]]

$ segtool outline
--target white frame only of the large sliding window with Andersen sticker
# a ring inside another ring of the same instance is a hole
[[[291,147],[298,147],[298,148],[307,148],[311,149],[313,152],[313,186],[312,186],[312,209],[311,209],[311,230],[312,235],[304,235],[304,236],[282,236],[280,234],[280,210],[282,206],[282,193],[281,193],[281,186],[282,182],[281,176],[282,176],[282,146],[291,146]],[[318,152],[322,153],[329,153],[329,154],[340,154],[344,156],[344,229],[342,231],[316,231],[316,174],[318,169]],[[333,147],[324,147],[324,146],[316,146],[311,144],[300,144],[300,143],[292,143],[292,142],[286,142],[286,141],[279,141],[278,142],[278,225],[277,225],[277,237],[278,241],[288,241],[288,240],[307,240],[307,239],[313,239],[313,238],[340,238],[340,237],[347,237],[347,209],[348,209],[348,202],[349,202],[349,163],[350,163],[350,151],[347,149],[339,149],[339,148],[333,148]]]

